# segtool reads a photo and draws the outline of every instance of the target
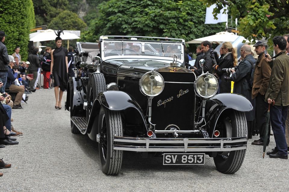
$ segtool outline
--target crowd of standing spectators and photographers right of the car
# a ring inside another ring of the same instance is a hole
[[[244,95],[252,104],[253,110],[246,112],[248,138],[259,133],[259,139],[252,145],[264,145],[264,135],[268,135],[266,145],[270,142],[270,129],[266,132],[266,114],[271,105],[270,123],[276,147],[267,152],[271,158],[288,159],[289,150],[289,35],[275,36],[273,48],[275,56],[267,53],[266,40],[254,45],[241,47],[241,61],[237,64],[237,50],[232,43],[225,42],[220,48],[220,57],[212,49],[212,44],[204,41],[197,47],[197,59],[190,69],[199,76],[202,73],[198,65],[205,60],[204,73],[213,73],[219,81],[218,93],[230,93],[231,81],[234,82],[233,93]],[[200,49],[202,53],[200,53]],[[274,60],[273,60],[274,59]],[[227,72],[224,72],[222,69]],[[265,133],[266,132],[266,133]]]

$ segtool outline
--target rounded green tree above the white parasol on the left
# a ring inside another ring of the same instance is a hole
[[[48,28],[50,29],[82,30],[85,27],[84,21],[71,11],[62,11],[48,24]]]

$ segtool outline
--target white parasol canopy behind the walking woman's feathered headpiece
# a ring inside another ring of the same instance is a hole
[[[30,41],[33,41],[33,42],[51,41],[51,40],[55,40],[55,38],[57,37],[56,34],[54,33],[54,30],[52,29],[46,29],[40,32],[31,33],[29,36],[30,36]],[[64,34],[61,33],[60,37],[63,40],[80,39],[79,36],[73,33],[68,33],[68,32],[64,32]]]

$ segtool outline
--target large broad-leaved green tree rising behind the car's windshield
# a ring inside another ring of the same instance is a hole
[[[169,36],[186,41],[220,32],[224,23],[205,25],[206,6],[198,0],[110,0],[99,6],[88,40],[100,35]]]

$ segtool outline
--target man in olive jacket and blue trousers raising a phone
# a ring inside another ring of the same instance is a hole
[[[269,54],[266,60],[272,67],[269,87],[266,92],[265,101],[269,104],[275,101],[270,107],[270,121],[276,147],[267,152],[271,158],[288,159],[287,143],[285,139],[285,121],[289,105],[289,56],[285,53],[286,40],[282,36],[273,38],[274,51],[276,56],[274,62]]]

